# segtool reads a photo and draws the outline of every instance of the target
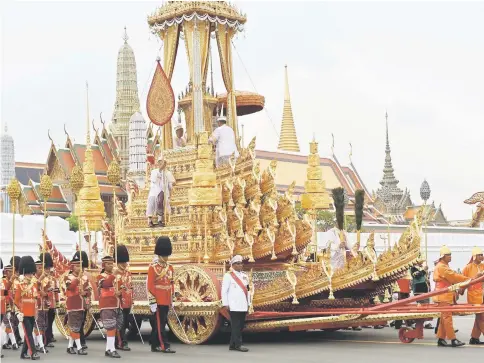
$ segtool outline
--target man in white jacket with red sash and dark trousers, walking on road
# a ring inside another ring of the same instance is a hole
[[[230,271],[224,275],[222,281],[222,304],[230,314],[230,345],[229,350],[248,352],[242,345],[242,330],[245,317],[251,305],[249,294],[249,277],[242,271],[242,256],[234,256],[230,261]]]

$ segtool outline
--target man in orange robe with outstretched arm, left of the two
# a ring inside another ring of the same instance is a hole
[[[437,266],[434,270],[435,289],[440,290],[446,287],[450,287],[459,282],[467,281],[469,278],[458,274],[451,270],[449,262],[452,261],[452,252],[447,246],[442,246],[440,249],[440,258]],[[434,302],[439,306],[450,306],[455,304],[455,294],[453,291],[446,292],[441,295],[437,295],[433,298]],[[465,345],[455,336],[454,322],[452,320],[451,312],[442,312],[440,314],[440,323],[437,330],[437,345],[439,347],[460,347]],[[452,341],[448,344],[446,339]]]

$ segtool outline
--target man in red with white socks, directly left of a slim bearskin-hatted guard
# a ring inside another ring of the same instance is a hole
[[[97,285],[99,289],[101,321],[107,335],[106,352],[104,354],[106,357],[121,358],[115,347],[121,291],[118,289],[117,275],[114,274],[114,258],[111,256],[103,257],[102,263],[103,269],[97,277]]]

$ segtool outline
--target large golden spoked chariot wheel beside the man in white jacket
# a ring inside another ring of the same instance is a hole
[[[219,330],[222,320],[213,305],[206,310],[203,308],[203,303],[220,301],[217,276],[203,267],[185,265],[175,270],[174,282],[174,301],[181,306],[177,306],[176,314],[170,309],[168,325],[171,331],[186,344],[205,343]],[[201,304],[197,307],[196,303]]]

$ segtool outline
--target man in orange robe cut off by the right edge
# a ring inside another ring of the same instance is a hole
[[[484,263],[482,263],[482,260],[482,249],[480,249],[479,247],[474,247],[472,249],[471,261],[466,265],[466,267],[464,267],[464,271],[462,271],[462,274],[471,279],[476,278],[479,273],[483,274]],[[469,286],[469,288],[467,289],[467,302],[469,304],[482,305],[483,293],[484,289],[482,283]],[[481,334],[484,334],[484,314],[476,314],[476,320],[474,322],[474,328],[472,329],[471,340],[469,341],[469,344],[484,344],[484,342],[481,342],[479,340]]]

